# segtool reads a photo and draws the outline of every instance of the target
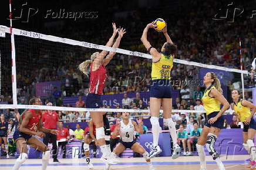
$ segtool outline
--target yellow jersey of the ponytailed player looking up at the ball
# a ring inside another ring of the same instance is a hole
[[[204,96],[202,97],[202,102],[204,110],[206,110],[206,115],[209,115],[214,111],[220,111],[220,101],[218,101],[215,97],[210,97],[208,95],[211,89],[216,89],[216,87],[211,85],[208,89],[206,89],[206,91],[204,91]]]

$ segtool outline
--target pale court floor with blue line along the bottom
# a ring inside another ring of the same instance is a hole
[[[2,158],[2,157],[1,157]],[[227,159],[226,159],[227,158]],[[245,168],[245,164],[248,159],[248,155],[234,155],[228,157],[221,157],[225,164],[226,169],[249,169]],[[217,165],[207,156],[207,169],[213,170],[218,169]],[[50,159],[49,166],[47,170],[84,170],[87,169],[85,164],[85,159],[59,159],[60,164],[53,164],[52,159]],[[122,169],[122,170],[146,170],[149,166],[146,164],[143,158],[120,158],[122,163],[117,165],[112,165],[110,169]],[[0,159],[0,169],[11,170],[14,165],[15,159]],[[91,159],[94,165],[93,169],[104,169],[105,165],[99,159]],[[171,159],[171,157],[158,157],[152,159],[153,166],[157,170],[167,170],[167,169],[200,169],[198,162],[198,157],[179,157],[177,159]],[[41,159],[28,159],[21,166],[21,170],[34,170],[41,169]]]

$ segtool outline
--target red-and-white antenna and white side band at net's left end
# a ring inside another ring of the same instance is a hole
[[[10,19],[10,33],[11,33],[11,50],[12,50],[12,101],[14,106],[17,102],[17,84],[16,84],[16,55],[15,55],[15,41],[14,33],[12,32],[12,0],[9,0],[9,19]]]

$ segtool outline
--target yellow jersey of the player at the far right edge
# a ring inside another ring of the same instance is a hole
[[[245,122],[245,119],[250,117],[251,111],[247,106],[242,106],[242,100],[239,98],[238,103],[234,103],[235,114],[240,118],[241,122]]]

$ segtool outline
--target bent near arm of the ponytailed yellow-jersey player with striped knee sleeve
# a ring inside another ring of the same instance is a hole
[[[223,105],[220,112],[215,117],[210,118],[210,120],[208,120],[208,123],[213,124],[226,110],[228,110],[228,108],[230,108],[230,104],[225,99],[223,94],[221,94],[217,89],[211,89],[210,93],[211,96],[215,97]]]

